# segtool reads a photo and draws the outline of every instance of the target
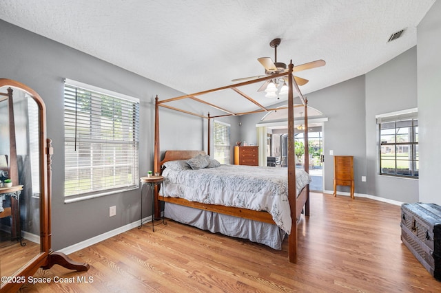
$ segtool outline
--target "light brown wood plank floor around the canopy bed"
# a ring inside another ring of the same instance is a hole
[[[401,243],[400,206],[311,193],[298,252],[293,264],[286,241],[277,251],[168,221],[71,254],[88,272],[55,265],[34,275],[93,283],[26,284],[21,292],[441,292]]]

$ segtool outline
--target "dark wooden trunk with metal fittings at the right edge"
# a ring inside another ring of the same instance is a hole
[[[402,204],[400,226],[402,243],[441,281],[441,206]]]

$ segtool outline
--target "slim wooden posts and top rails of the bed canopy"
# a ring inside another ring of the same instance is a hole
[[[291,208],[291,233],[289,234],[289,262],[296,263],[297,262],[297,215],[300,215],[300,211],[303,208],[302,206],[297,206],[297,198],[296,198],[296,162],[295,162],[295,152],[294,152],[294,107],[305,107],[304,110],[304,118],[305,118],[305,129],[308,129],[308,115],[307,115],[307,99],[302,95],[300,89],[298,88],[298,84],[296,83],[296,80],[294,79],[292,73],[293,73],[293,63],[292,61],[288,65],[288,71],[279,73],[279,74],[271,74],[269,76],[265,76],[263,78],[257,78],[254,80],[245,81],[242,83],[236,83],[234,85],[227,85],[225,87],[218,87],[216,89],[209,89],[207,91],[200,91],[198,93],[194,94],[187,94],[184,96],[178,96],[175,98],[169,98],[167,100],[159,100],[158,96],[155,98],[155,127],[154,127],[154,172],[160,172],[161,171],[161,153],[159,149],[159,107],[165,107],[167,109],[172,109],[175,111],[180,111],[183,113],[187,113],[192,116],[198,116],[200,118],[207,119],[208,123],[208,144],[207,144],[207,154],[210,154],[210,122],[214,118],[223,118],[228,116],[241,116],[246,114],[252,114],[252,113],[261,113],[261,112],[268,112],[268,111],[276,111],[280,109],[287,109],[288,110],[288,147],[287,147],[287,172],[288,172],[288,199],[289,199],[289,205]],[[260,83],[265,80],[274,79],[274,78],[283,78],[287,76],[288,80],[288,105],[287,107],[279,107],[279,108],[267,108],[263,105],[260,105],[256,100],[253,98],[247,96],[247,94],[243,93],[243,91],[240,91],[238,87],[243,87],[245,85],[251,85],[254,83]],[[243,98],[246,98],[250,102],[253,102],[258,109],[254,111],[248,111],[248,112],[241,112],[241,113],[234,113],[232,111],[229,111],[227,109],[223,109],[221,107],[218,107],[212,103],[206,102],[204,100],[201,100],[197,98],[197,96],[203,96],[205,94],[209,94],[215,91],[221,91],[224,89],[232,89],[235,91],[239,96],[242,96]],[[302,105],[294,105],[294,89],[296,89],[296,92],[298,93],[298,96],[302,102]],[[218,116],[210,116],[209,113],[207,116],[198,114],[198,113],[192,113],[190,111],[186,111],[183,109],[178,109],[176,107],[172,107],[170,105],[167,105],[168,102],[173,102],[176,100],[183,100],[183,99],[192,99],[196,102],[201,102],[205,105],[208,105],[209,107],[213,107],[215,109],[218,109],[220,111],[223,111],[225,114],[218,115]],[[305,145],[308,145],[308,133],[307,130],[305,131]],[[305,147],[305,171],[309,173],[309,151],[308,147]],[[309,188],[307,186],[307,188]],[[305,199],[305,215],[309,216],[309,189],[307,191]],[[161,216],[161,210],[158,208],[158,199],[160,196],[158,195],[158,188],[155,186],[154,190],[154,199],[155,199],[155,213],[154,217],[160,217]],[[207,209],[207,208],[205,208]],[[214,210],[218,211],[218,210]],[[265,212],[259,212],[259,213],[265,213]],[[247,217],[247,216],[245,216]],[[300,217],[300,216],[299,216]]]

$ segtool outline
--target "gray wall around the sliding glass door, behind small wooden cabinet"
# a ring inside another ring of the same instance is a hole
[[[314,83],[314,80],[310,83]],[[356,193],[365,193],[366,182],[361,182],[361,176],[366,175],[365,77],[352,78],[305,96],[309,106],[329,118],[323,127],[324,189],[334,190],[334,157],[329,155],[329,150],[333,150],[334,155],[353,155]],[[300,103],[297,100],[295,102]],[[260,118],[264,115],[265,113],[258,113],[241,118],[243,124],[240,136],[243,140],[256,144],[256,124],[262,123]],[[338,191],[349,192],[349,186],[338,186]]]

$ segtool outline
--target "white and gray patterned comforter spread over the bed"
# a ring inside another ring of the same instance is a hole
[[[289,234],[291,213],[288,202],[287,169],[221,165],[217,168],[174,171],[165,169],[163,195],[191,202],[265,210]],[[296,169],[297,194],[311,182]]]

